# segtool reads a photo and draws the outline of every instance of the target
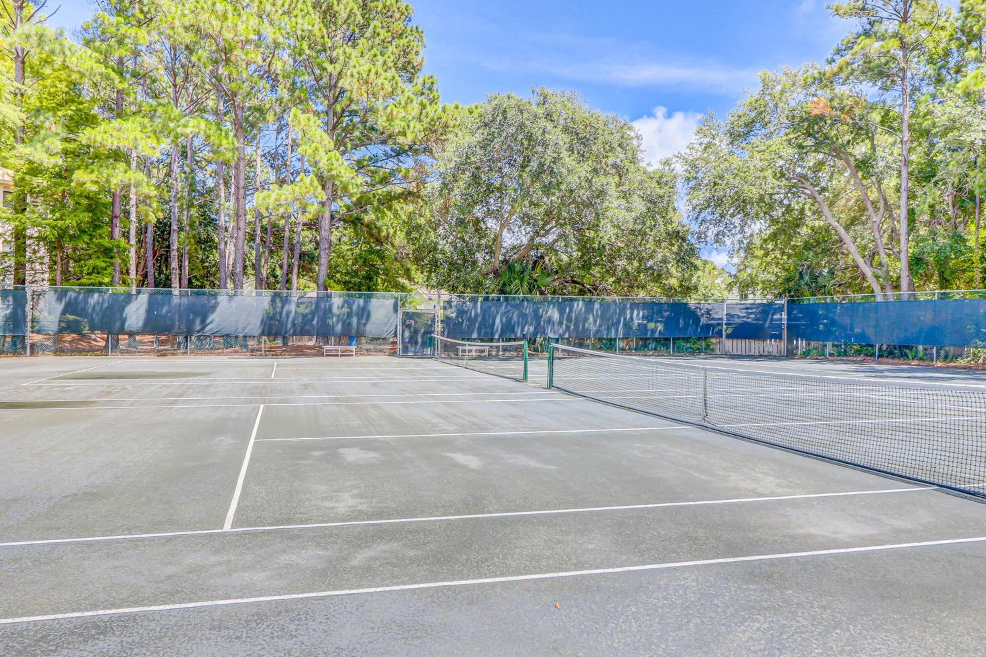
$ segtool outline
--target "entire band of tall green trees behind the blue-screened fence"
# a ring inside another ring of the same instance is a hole
[[[103,0],[79,42],[6,25],[0,276],[718,298],[883,293],[909,265],[981,287],[986,0],[954,4],[833,6],[854,23],[826,63],[763,73],[654,168],[574,94],[443,105],[403,0]]]

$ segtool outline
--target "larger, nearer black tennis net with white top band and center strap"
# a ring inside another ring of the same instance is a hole
[[[883,474],[986,495],[986,389],[671,362],[551,345],[548,386]]]

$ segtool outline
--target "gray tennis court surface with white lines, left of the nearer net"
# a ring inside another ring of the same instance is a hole
[[[6,359],[0,396],[3,654],[986,643],[986,505],[441,362]]]

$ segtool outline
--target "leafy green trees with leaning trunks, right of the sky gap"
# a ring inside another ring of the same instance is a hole
[[[738,254],[740,291],[981,285],[982,8],[835,5],[858,29],[828,65],[763,73],[706,118],[679,160],[688,209]]]

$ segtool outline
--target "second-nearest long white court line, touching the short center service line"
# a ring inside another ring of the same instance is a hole
[[[0,547],[51,546],[70,543],[99,543],[105,541],[134,541],[142,539],[168,539],[181,536],[209,536],[213,534],[246,534],[251,532],[282,532],[305,529],[325,529],[331,527],[357,527],[363,525],[398,525],[406,523],[444,522],[450,520],[481,520],[484,518],[513,518],[518,516],[549,516],[572,513],[598,513],[601,511],[628,511],[634,509],[660,509],[679,506],[708,506],[716,504],[743,504],[749,502],[776,502],[791,499],[814,499],[818,497],[850,497],[854,495],[883,495],[917,490],[934,490],[937,486],[912,486],[909,488],[880,488],[877,490],[850,490],[833,493],[805,493],[799,495],[774,495],[771,497],[736,497],[728,499],[704,499],[689,502],[657,502],[654,504],[629,504],[623,506],[588,506],[572,509],[546,509],[538,511],[503,511],[499,513],[469,513],[454,516],[424,516],[416,518],[386,518],[383,520],[351,520],[335,523],[310,523],[305,525],[268,525],[260,527],[224,528],[221,530],[188,530],[184,532],[157,532],[154,534],[121,534],[116,536],[94,536],[74,539],[35,539],[33,541],[12,541],[0,543]]]

